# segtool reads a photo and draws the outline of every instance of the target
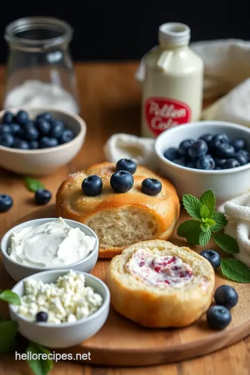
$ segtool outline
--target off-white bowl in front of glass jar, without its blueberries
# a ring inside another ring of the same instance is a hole
[[[81,150],[86,135],[86,124],[81,117],[63,110],[22,107],[15,110],[2,110],[0,122],[6,111],[17,113],[20,109],[26,110],[31,119],[40,113],[49,112],[55,119],[65,122],[76,136],[68,143],[48,149],[21,150],[0,146],[0,167],[17,174],[44,176],[53,174],[58,168],[69,163]]]

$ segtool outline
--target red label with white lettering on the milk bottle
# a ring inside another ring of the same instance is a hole
[[[191,119],[191,108],[175,99],[151,97],[145,102],[144,110],[147,126],[155,135]]]

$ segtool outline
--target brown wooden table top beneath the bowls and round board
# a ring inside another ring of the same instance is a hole
[[[53,193],[70,172],[104,160],[103,143],[113,133],[140,133],[140,85],[135,82],[137,63],[92,63],[76,65],[81,116],[88,127],[81,153],[55,175],[42,178]],[[3,67],[0,82],[4,82]],[[3,93],[3,87],[0,90]],[[1,99],[1,98],[0,98]],[[14,206],[0,215],[0,234],[20,217],[36,210],[33,194],[21,177],[0,169],[0,193],[8,193]],[[1,289],[1,285],[0,285]],[[227,349],[183,363],[144,368],[105,368],[62,361],[51,375],[250,375],[250,337]],[[0,356],[0,375],[31,375],[26,363],[13,356]]]

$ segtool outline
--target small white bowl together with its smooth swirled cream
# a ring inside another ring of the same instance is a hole
[[[1,253],[15,281],[49,269],[90,272],[97,263],[99,239],[91,228],[74,220],[34,219],[3,236]]]

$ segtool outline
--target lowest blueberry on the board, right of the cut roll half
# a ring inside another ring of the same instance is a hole
[[[206,313],[208,325],[214,329],[224,329],[231,323],[230,311],[224,306],[210,306]]]

